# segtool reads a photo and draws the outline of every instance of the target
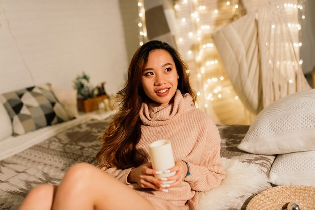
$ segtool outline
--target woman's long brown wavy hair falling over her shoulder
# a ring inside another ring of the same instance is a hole
[[[139,154],[143,157],[136,150],[136,145],[141,138],[142,122],[139,112],[142,102],[147,102],[149,98],[140,85],[149,52],[155,49],[166,50],[170,53],[179,76],[177,89],[182,94],[189,93],[193,102],[196,101],[196,94],[190,86],[186,73],[188,67],[181,55],[165,42],[153,40],[142,45],[132,57],[128,68],[128,80],[124,88],[117,93],[116,97],[120,102],[119,112],[113,117],[110,126],[102,135],[103,146],[96,155],[99,167],[126,169],[141,165],[141,161],[136,156]]]

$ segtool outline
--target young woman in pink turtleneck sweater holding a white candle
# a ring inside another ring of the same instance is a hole
[[[59,186],[34,188],[25,209],[198,209],[198,191],[224,179],[220,136],[210,117],[194,106],[187,66],[167,43],[150,41],[134,54],[121,101],[103,135],[98,167],[72,166]],[[152,169],[148,145],[171,141],[175,166]],[[154,174],[176,172],[164,180]],[[162,181],[174,180],[172,184]]]

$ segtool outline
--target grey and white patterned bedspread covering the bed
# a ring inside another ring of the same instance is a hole
[[[19,154],[0,161],[0,209],[18,209],[27,193],[36,185],[58,184],[65,171],[78,162],[96,164],[101,146],[100,135],[110,118],[89,120],[73,126]],[[219,125],[221,156],[255,164],[266,174],[274,156],[254,155],[237,148],[249,126]],[[244,209],[251,195],[235,200],[230,209]]]

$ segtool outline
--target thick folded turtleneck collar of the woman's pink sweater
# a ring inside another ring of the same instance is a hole
[[[173,122],[182,113],[194,108],[192,97],[186,93],[182,95],[176,90],[174,102],[167,106],[159,106],[156,103],[142,103],[140,119],[144,125],[162,126]]]

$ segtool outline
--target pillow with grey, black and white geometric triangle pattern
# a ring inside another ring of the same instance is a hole
[[[50,84],[36,85],[0,95],[13,127],[13,136],[69,120]]]

